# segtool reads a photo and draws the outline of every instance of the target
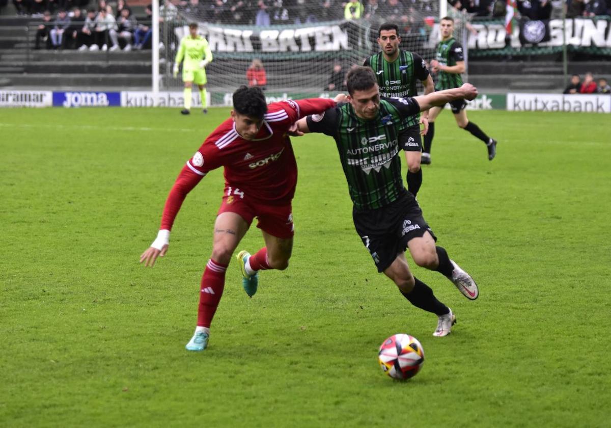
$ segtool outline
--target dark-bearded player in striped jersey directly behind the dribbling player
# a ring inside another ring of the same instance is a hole
[[[378,29],[378,45],[381,52],[367,59],[363,64],[371,67],[376,73],[380,95],[382,97],[415,97],[418,95],[417,80],[424,86],[424,94],[428,95],[435,90],[433,78],[426,68],[426,62],[419,54],[401,50],[401,37],[397,24],[384,23]],[[423,125],[420,131],[419,124]],[[422,112],[405,120],[405,130],[401,132],[401,148],[405,152],[408,162],[408,190],[414,196],[422,185],[422,170],[420,169],[420,150],[422,149],[421,135],[428,131],[428,111]]]

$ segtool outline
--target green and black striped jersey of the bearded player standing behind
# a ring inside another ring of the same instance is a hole
[[[376,53],[365,59],[364,67],[371,67],[376,73],[380,95],[382,97],[415,97],[418,95],[417,80],[428,78],[426,62],[409,51],[399,50],[395,61],[388,62],[383,53]],[[404,122],[406,127],[417,126],[420,112],[408,117]]]

